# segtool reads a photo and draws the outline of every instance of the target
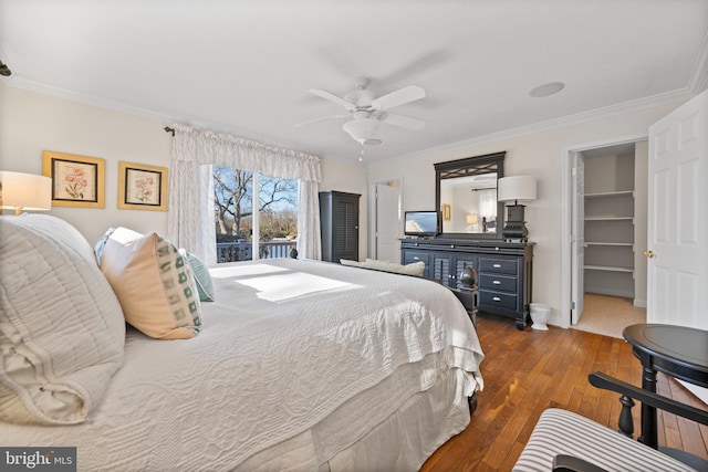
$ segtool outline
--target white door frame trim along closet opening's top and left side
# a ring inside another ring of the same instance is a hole
[[[572,210],[573,210],[573,153],[647,140],[649,130],[591,143],[565,146],[561,158],[561,327],[571,327],[571,291],[572,291]]]

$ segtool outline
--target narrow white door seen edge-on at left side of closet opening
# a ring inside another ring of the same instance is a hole
[[[583,315],[583,296],[585,295],[585,162],[580,153],[573,153],[572,159],[571,323],[575,325]]]

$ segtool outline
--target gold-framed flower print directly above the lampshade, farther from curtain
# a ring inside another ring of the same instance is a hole
[[[52,179],[52,207],[105,208],[105,159],[43,150],[42,175]]]

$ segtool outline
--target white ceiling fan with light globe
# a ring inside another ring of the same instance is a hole
[[[382,123],[414,130],[419,130],[425,127],[425,122],[423,119],[388,112],[389,108],[395,106],[424,98],[425,90],[417,85],[408,85],[407,87],[399,88],[376,98],[374,97],[374,93],[366,88],[368,83],[368,78],[358,77],[356,80],[356,88],[344,95],[344,97],[340,97],[326,91],[310,88],[309,92],[311,94],[329,99],[337,105],[342,105],[346,113],[311,119],[309,122],[300,123],[299,125],[295,125],[295,127],[323,122],[325,119],[352,117],[354,119],[344,123],[344,125],[342,125],[342,129],[344,129],[355,141],[361,145],[368,146],[382,143],[381,139],[374,137],[374,134]]]

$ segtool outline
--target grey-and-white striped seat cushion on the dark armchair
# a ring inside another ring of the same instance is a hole
[[[580,415],[545,410],[513,466],[514,472],[548,472],[558,454],[573,455],[608,472],[694,471],[662,452]]]

